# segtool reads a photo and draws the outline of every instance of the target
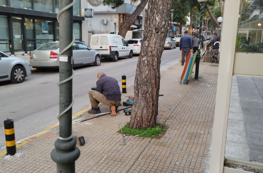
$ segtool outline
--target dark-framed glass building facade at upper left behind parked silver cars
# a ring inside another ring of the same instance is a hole
[[[3,52],[29,51],[41,43],[59,40],[57,13],[59,0],[0,0],[0,50]],[[80,0],[73,6],[73,34],[82,40]],[[12,49],[10,49],[10,45]]]

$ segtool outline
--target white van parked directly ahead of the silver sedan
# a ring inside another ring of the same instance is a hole
[[[91,49],[101,53],[101,58],[112,58],[114,62],[119,57],[133,57],[133,50],[122,36],[115,34],[94,34],[90,39]]]

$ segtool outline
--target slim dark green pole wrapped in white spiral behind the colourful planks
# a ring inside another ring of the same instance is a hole
[[[199,24],[199,30],[203,31],[203,15],[204,15],[204,7],[205,7],[205,2],[207,0],[198,0],[198,2],[201,3],[201,13],[200,13],[200,24]],[[198,73],[199,73],[199,63],[200,63],[200,49],[201,49],[201,35],[202,32],[199,33],[199,39],[198,39],[198,52],[196,55],[196,72],[195,72],[195,80],[198,80],[198,78],[202,78],[202,77],[198,77]]]

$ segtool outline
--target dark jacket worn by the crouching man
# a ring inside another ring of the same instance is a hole
[[[101,75],[97,80],[96,91],[105,95],[107,100],[121,101],[121,91],[118,81],[112,77]]]

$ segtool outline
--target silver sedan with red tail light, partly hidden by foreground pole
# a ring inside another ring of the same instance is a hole
[[[58,41],[46,43],[29,54],[30,64],[33,68],[41,71],[47,68],[59,68],[58,53]],[[73,67],[88,64],[100,65],[101,54],[96,50],[90,49],[86,44],[75,41],[73,44]]]

